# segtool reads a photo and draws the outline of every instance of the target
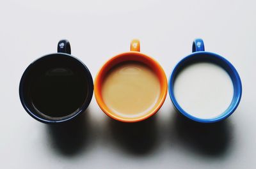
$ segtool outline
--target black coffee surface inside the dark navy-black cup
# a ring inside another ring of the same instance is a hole
[[[38,76],[31,84],[34,107],[49,117],[65,117],[84,103],[88,85],[67,68],[53,68]]]

